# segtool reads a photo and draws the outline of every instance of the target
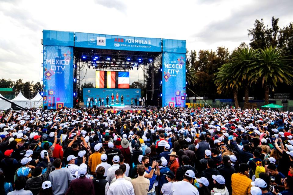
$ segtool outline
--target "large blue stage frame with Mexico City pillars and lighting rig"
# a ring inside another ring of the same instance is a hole
[[[84,68],[129,71],[143,67],[146,74],[154,63],[161,64],[162,106],[185,107],[185,40],[43,30],[42,44],[44,108],[73,107]],[[144,90],[153,94],[154,81],[146,86],[146,77]],[[151,98],[157,102],[157,97]]]

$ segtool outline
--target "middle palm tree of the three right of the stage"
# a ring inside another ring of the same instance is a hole
[[[244,86],[244,108],[248,108],[249,79],[251,67],[254,66],[257,50],[252,48],[239,48],[231,55],[229,63],[232,65],[232,73],[236,80]]]

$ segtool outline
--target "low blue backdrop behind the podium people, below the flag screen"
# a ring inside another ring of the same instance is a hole
[[[88,98],[99,98],[104,99],[104,105],[107,104],[106,97],[109,96],[109,104],[111,102],[111,95],[114,94],[114,102],[116,101],[116,93],[119,95],[119,101],[121,103],[121,94],[123,95],[123,102],[125,105],[131,105],[131,98],[133,98],[133,105],[134,105],[134,98],[137,98],[137,105],[138,99],[141,96],[140,89],[107,89],[107,88],[83,88],[83,101],[85,105],[87,104],[86,101]]]

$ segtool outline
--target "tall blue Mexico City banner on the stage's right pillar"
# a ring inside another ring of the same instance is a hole
[[[163,53],[162,106],[185,107],[185,54]]]

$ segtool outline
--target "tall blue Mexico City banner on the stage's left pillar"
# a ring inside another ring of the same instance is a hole
[[[44,106],[73,107],[73,47],[44,45]]]

